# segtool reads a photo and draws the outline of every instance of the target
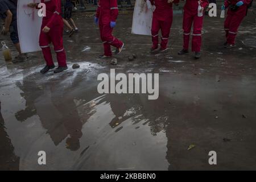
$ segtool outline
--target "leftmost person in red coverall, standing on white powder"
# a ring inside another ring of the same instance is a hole
[[[61,1],[60,0],[41,0],[46,5],[46,16],[43,17],[42,31],[40,32],[39,45],[42,48],[46,67],[40,72],[46,73],[49,69],[55,68],[52,60],[51,48],[49,44],[52,42],[56,52],[59,67],[54,73],[59,73],[68,69],[66,63],[66,53],[63,47],[63,20],[61,17]],[[38,8],[38,3],[29,3],[28,7]]]

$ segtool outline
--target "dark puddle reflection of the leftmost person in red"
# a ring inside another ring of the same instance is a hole
[[[22,122],[37,114],[55,146],[66,139],[66,147],[69,150],[78,150],[83,123],[77,113],[73,96],[61,88],[60,83],[55,82],[52,86],[47,85],[42,89],[35,81],[36,78],[24,78],[23,84],[16,84],[23,91],[22,97],[26,100],[26,109],[18,111],[15,114],[16,119]],[[40,86],[44,87],[43,84]]]

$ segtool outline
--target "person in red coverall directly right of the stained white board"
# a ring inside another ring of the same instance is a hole
[[[151,35],[153,43],[153,46],[151,47],[151,52],[158,51],[159,30],[161,30],[162,32],[162,42],[159,52],[164,52],[167,50],[168,39],[172,26],[172,2],[179,3],[179,0],[150,0],[150,2],[151,5],[155,5],[151,26]]]

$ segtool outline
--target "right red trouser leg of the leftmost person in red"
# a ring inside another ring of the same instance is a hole
[[[63,23],[60,26],[52,27],[49,31],[49,36],[56,52],[59,67],[66,67],[66,53],[63,47]]]

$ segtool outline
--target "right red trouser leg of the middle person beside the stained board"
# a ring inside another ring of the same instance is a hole
[[[168,21],[161,21],[160,22],[160,27],[161,27],[161,32],[162,32],[162,42],[161,42],[161,48],[166,49],[167,44],[168,44],[168,39],[170,36],[170,31],[171,31],[171,26],[172,26],[172,16]]]

